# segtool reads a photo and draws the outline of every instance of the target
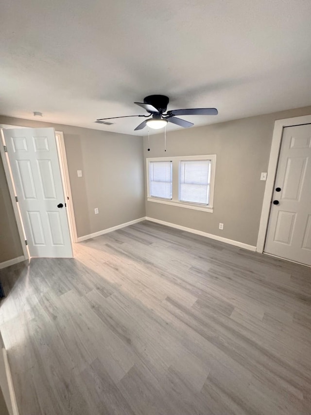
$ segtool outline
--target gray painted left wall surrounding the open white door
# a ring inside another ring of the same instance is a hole
[[[63,131],[78,236],[145,216],[142,137],[5,116],[0,116],[0,124]],[[77,177],[78,169],[82,178]],[[3,198],[9,204],[6,183],[5,187]],[[0,200],[1,211],[2,205]],[[11,205],[8,215],[12,211]],[[1,226],[1,234],[12,249],[5,256],[1,249],[0,262],[22,255],[16,224],[10,230]],[[13,240],[18,241],[15,248]]]

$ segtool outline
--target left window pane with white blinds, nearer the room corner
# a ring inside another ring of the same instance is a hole
[[[172,199],[173,163],[149,162],[149,192],[153,198]]]

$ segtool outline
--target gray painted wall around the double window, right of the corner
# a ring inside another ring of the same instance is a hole
[[[146,201],[146,216],[256,246],[274,122],[311,107],[144,137],[144,157],[216,154],[213,213]],[[219,230],[219,222],[224,230]]]

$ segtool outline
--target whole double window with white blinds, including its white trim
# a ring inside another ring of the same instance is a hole
[[[213,212],[216,154],[147,158],[147,200]]]

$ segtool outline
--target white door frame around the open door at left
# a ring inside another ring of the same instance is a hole
[[[4,151],[4,145],[5,145],[5,139],[3,134],[3,129],[12,129],[12,128],[30,128],[30,127],[24,127],[24,126],[11,126],[11,125],[0,125],[0,136],[1,136],[1,144],[0,144],[0,154],[3,162],[4,172],[6,176],[6,181],[8,183],[9,193],[14,209],[14,214],[17,222],[17,229],[18,234],[24,254],[25,260],[29,260],[29,250],[27,245],[25,244],[26,234],[24,230],[24,225],[20,213],[20,207],[19,203],[16,202],[16,190],[15,190],[15,184],[14,179],[11,171],[10,166],[10,160],[8,157],[8,153],[5,153]],[[68,164],[67,164],[67,158],[66,158],[66,149],[65,149],[65,141],[64,141],[64,134],[62,131],[55,131],[55,138],[56,138],[56,148],[57,148],[57,156],[59,160],[60,165],[60,172],[61,172],[61,178],[62,178],[62,184],[64,189],[64,198],[67,200],[67,196],[69,197],[70,203],[68,204],[69,209],[66,209],[67,212],[67,219],[69,224],[69,234],[70,234],[70,241],[71,245],[72,243],[78,242],[78,236],[77,236],[77,230],[75,225],[75,218],[74,218],[74,211],[73,211],[73,205],[72,205],[72,195],[71,195],[71,188],[70,188],[70,181],[69,181],[69,170],[68,170]]]

